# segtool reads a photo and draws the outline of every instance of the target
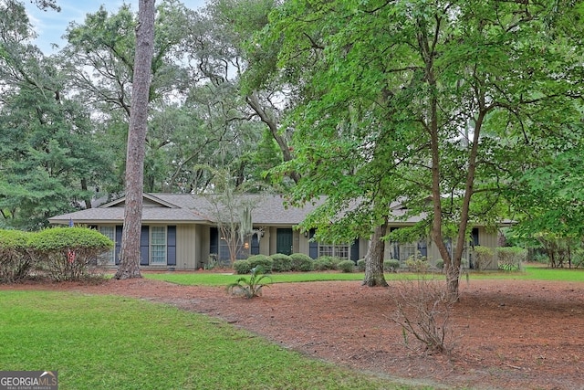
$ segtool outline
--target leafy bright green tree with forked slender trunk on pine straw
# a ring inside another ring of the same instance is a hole
[[[289,118],[297,159],[282,169],[303,173],[297,201],[328,195],[307,224],[347,240],[381,227],[399,202],[403,217],[422,216],[414,228],[433,238],[457,300],[468,230],[495,221],[516,161],[581,97],[582,47],[556,28],[578,26],[581,5],[559,4],[279,7],[265,39],[284,43],[283,72],[305,69],[304,101]]]

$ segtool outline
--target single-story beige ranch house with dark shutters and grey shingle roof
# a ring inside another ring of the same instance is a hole
[[[368,237],[352,243],[330,244],[311,239],[314,230],[303,233],[295,227],[318,204],[302,208],[286,206],[281,195],[256,196],[251,219],[255,233],[249,236],[238,252],[238,258],[249,255],[276,253],[304,253],[311,258],[336,256],[357,261],[364,258],[369,245]],[[110,237],[115,249],[110,252],[109,262],[119,262],[121,229],[124,217],[124,197],[102,206],[79,210],[49,218],[53,225],[83,225],[94,227]],[[142,269],[202,269],[210,258],[220,261],[229,258],[227,244],[217,227],[217,213],[209,198],[203,195],[144,194],[141,230]],[[399,213],[399,207],[392,210]],[[415,218],[395,220],[390,228],[412,225]],[[470,246],[496,248],[497,232],[485,227],[474,227]],[[452,249],[452,248],[451,248]],[[471,251],[465,250],[466,257]],[[412,255],[420,254],[431,263],[440,258],[432,241],[422,239],[414,243],[390,243],[386,245],[385,258],[396,258],[404,263]],[[472,267],[472,258],[468,258]],[[493,264],[486,268],[496,268]]]

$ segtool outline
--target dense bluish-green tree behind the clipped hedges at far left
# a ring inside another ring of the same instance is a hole
[[[81,104],[49,98],[46,90],[16,90],[0,108],[2,224],[37,230],[47,227],[47,217],[75,211],[80,201],[91,199],[89,185],[110,177],[110,162],[99,153]]]

